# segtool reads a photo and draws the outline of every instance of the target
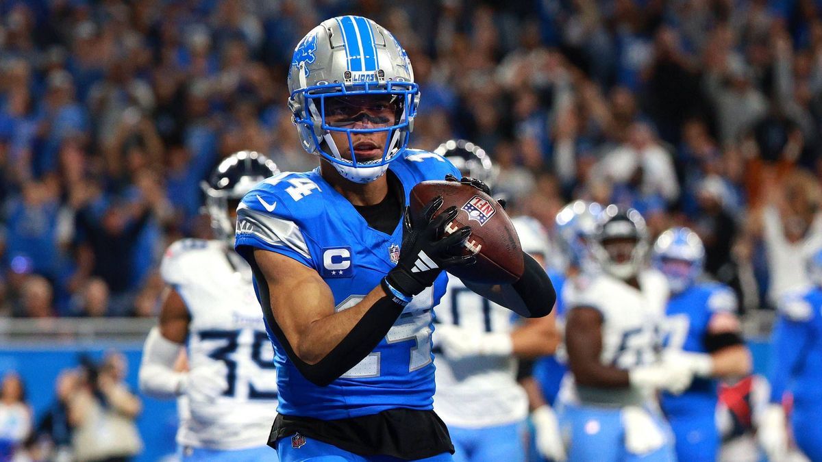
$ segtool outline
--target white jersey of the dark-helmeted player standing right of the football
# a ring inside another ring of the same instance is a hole
[[[599,355],[607,366],[629,370],[658,361],[660,326],[668,299],[667,280],[657,270],[640,272],[640,289],[607,274],[577,278],[567,307],[592,307],[603,317],[603,349]],[[572,374],[568,372],[572,377]],[[632,388],[595,389],[563,381],[561,395],[566,400],[589,404],[643,404],[648,398]]]

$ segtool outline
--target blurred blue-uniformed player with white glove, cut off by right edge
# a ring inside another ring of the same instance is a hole
[[[822,250],[810,256],[807,274],[813,285],[783,296],[771,339],[770,404],[757,432],[770,460],[786,458],[788,390],[794,440],[808,459],[822,460]]]

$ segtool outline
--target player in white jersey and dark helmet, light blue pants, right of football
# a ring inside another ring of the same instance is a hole
[[[685,390],[693,372],[658,354],[668,289],[663,275],[644,269],[644,219],[636,210],[607,206],[589,245],[602,271],[566,300],[573,381],[564,383],[570,390],[560,421],[570,436],[568,459],[675,460],[653,395]]]

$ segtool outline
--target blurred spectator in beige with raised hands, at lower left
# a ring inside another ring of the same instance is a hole
[[[85,358],[81,384],[68,403],[76,460],[130,460],[140,454],[134,421],[142,404],[123,382],[127,367],[120,353],[106,354],[99,365]]]

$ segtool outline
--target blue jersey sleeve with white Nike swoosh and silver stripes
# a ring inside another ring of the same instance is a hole
[[[259,248],[313,268],[299,219],[289,210],[289,195],[282,194],[276,186],[263,183],[242,198],[237,207],[234,249],[246,260],[253,249]]]

